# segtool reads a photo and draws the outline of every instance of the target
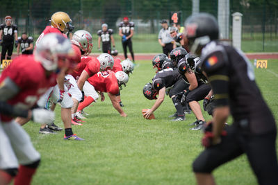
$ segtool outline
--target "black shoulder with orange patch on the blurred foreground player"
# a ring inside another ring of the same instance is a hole
[[[202,59],[202,69],[207,73],[213,73],[221,69],[228,61],[226,51],[220,46],[216,48],[213,52],[206,55],[206,58]]]

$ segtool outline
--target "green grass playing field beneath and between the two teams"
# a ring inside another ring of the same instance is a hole
[[[256,82],[277,120],[278,60],[268,62],[269,69],[255,70]],[[174,106],[166,97],[154,113],[156,120],[142,118],[141,110],[154,103],[142,95],[142,87],[153,76],[151,62],[136,63],[121,92],[127,118],[113,109],[107,95],[104,102],[86,108],[90,113],[86,123],[73,125],[74,132],[85,141],[64,141],[63,132],[43,135],[38,134],[40,125],[24,125],[42,155],[33,184],[195,184],[191,164],[203,150],[202,132],[191,131],[188,126],[195,116],[171,122],[168,116],[174,113]],[[56,124],[63,126],[59,106]],[[256,184],[245,155],[221,166],[214,175],[218,184]]]

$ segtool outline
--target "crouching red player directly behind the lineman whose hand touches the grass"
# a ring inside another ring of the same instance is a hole
[[[87,63],[85,63],[86,61]],[[85,67],[82,63],[85,64]],[[108,53],[102,53],[97,58],[81,58],[81,65],[79,66],[78,71],[75,71],[73,76],[78,76],[81,73],[79,80],[77,81],[77,85],[81,91],[84,89],[84,94],[87,96],[87,98],[85,98],[84,101],[79,104],[79,108],[77,109],[78,112],[82,112],[84,107],[87,107],[99,98],[99,96],[95,94],[94,87],[92,87],[92,85],[90,85],[88,82],[88,78],[94,76],[99,71],[113,69],[113,65],[114,59]],[[103,94],[101,94],[101,97],[102,96]]]

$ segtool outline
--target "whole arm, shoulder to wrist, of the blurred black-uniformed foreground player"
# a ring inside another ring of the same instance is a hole
[[[213,144],[217,144],[221,141],[224,123],[229,116],[229,71],[224,62],[224,53],[217,51],[212,58],[218,62],[211,65],[209,60],[204,60],[203,68],[214,94]]]

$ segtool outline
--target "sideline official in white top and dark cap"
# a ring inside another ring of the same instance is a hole
[[[170,52],[173,50],[174,39],[170,35],[170,27],[165,19],[161,21],[161,26],[162,29],[158,34],[158,42],[162,46],[163,53],[169,56]]]

